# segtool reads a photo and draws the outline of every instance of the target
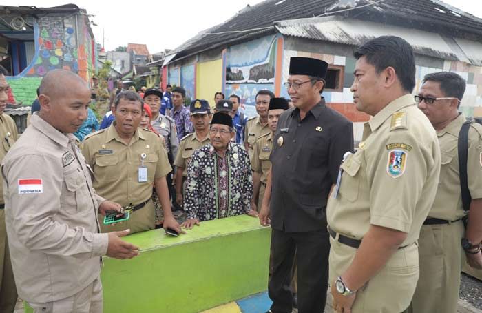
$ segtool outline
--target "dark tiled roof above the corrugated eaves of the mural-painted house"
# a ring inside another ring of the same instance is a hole
[[[276,21],[334,14],[439,32],[450,37],[482,39],[482,19],[439,0],[266,0],[247,6],[224,23],[189,39],[174,50],[175,59],[274,33]]]

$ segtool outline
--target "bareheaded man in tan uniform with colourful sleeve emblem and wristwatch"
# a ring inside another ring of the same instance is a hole
[[[410,94],[412,47],[383,36],[355,50],[351,86],[364,125],[329,196],[330,283],[336,312],[402,312],[419,279],[417,239],[440,172],[437,134]]]

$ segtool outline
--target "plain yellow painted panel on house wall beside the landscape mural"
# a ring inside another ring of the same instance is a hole
[[[222,90],[222,59],[197,63],[196,97],[214,106],[214,94]]]

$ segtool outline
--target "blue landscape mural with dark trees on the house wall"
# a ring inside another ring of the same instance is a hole
[[[225,54],[224,94],[237,94],[241,97],[245,114],[253,116],[255,96],[259,90],[275,92],[275,74],[278,58],[277,36],[262,37],[246,43],[229,47]]]

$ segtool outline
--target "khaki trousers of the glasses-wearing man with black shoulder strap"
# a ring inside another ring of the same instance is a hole
[[[423,225],[419,238],[420,279],[407,313],[454,313],[463,258],[462,221]]]

